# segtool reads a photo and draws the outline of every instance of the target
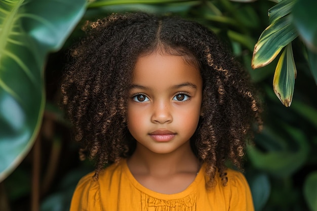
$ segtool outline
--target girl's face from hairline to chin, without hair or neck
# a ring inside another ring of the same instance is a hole
[[[171,153],[189,146],[201,113],[202,87],[200,70],[183,57],[155,52],[141,56],[128,101],[128,129],[137,149]]]

